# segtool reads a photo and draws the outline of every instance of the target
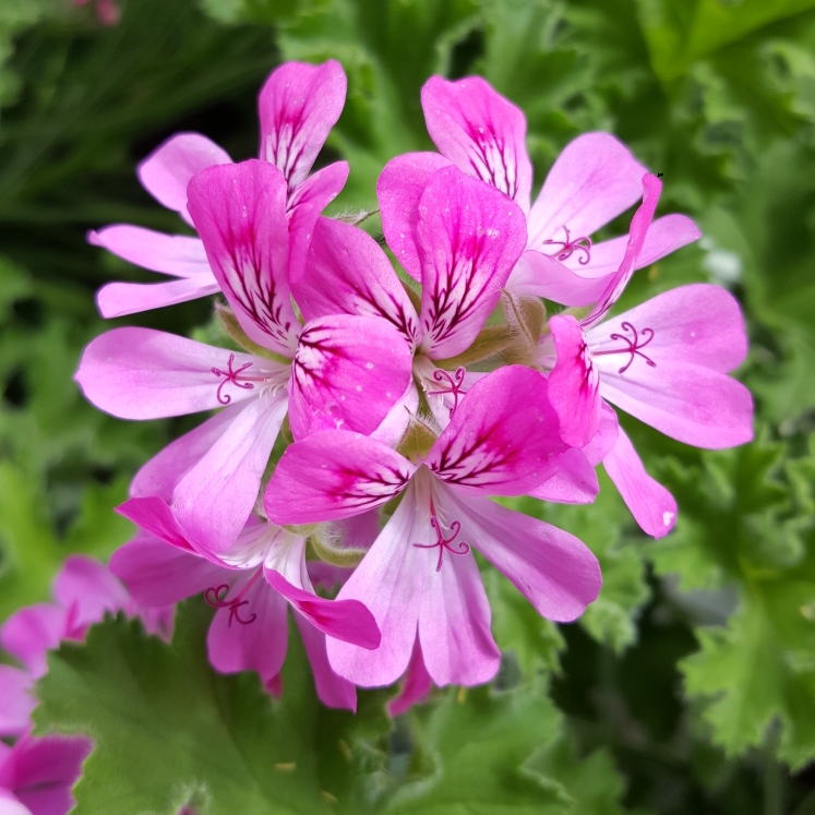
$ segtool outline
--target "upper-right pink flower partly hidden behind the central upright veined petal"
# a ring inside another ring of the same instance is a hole
[[[419,279],[415,224],[422,191],[448,164],[512,197],[527,218],[528,242],[506,289],[565,305],[597,301],[625,254],[625,237],[592,243],[591,236],[639,197],[647,172],[608,133],[585,133],[563,149],[530,206],[532,168],[522,110],[488,82],[433,76],[421,93],[435,153],[394,158],[377,184],[382,226],[405,269]],[[643,268],[699,237],[684,215],[667,215],[648,231],[634,267]]]

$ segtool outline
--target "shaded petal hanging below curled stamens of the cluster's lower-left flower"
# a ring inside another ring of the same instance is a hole
[[[250,573],[241,573],[226,600],[237,600],[253,578]],[[221,673],[257,671],[267,682],[280,672],[286,659],[288,603],[263,579],[249,587],[239,602],[243,601],[247,604],[237,614],[227,608],[215,614],[206,639],[209,662]]]

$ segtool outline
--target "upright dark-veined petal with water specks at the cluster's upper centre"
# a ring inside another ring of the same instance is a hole
[[[421,348],[433,359],[454,357],[483,327],[524,251],[524,213],[494,188],[447,167],[422,193],[417,235]]]

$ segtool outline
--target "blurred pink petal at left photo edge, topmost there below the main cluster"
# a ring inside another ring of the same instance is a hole
[[[20,609],[0,627],[0,646],[39,679],[48,671],[48,649],[69,635],[70,614],[62,606],[45,602]]]

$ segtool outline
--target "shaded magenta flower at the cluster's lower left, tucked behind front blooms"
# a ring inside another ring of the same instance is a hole
[[[209,626],[209,662],[223,673],[254,670],[273,693],[288,642],[287,603],[295,613],[320,698],[356,710],[355,686],[329,668],[326,638],[376,648],[380,631],[357,600],[327,600],[312,586],[305,539],[252,517],[229,551],[196,550],[166,503],[132,499],[119,512],[145,529],[115,552],[111,570],[144,606],[164,606],[202,594],[218,611]],[[347,570],[334,570],[343,579]],[[331,588],[331,586],[329,586]]]

